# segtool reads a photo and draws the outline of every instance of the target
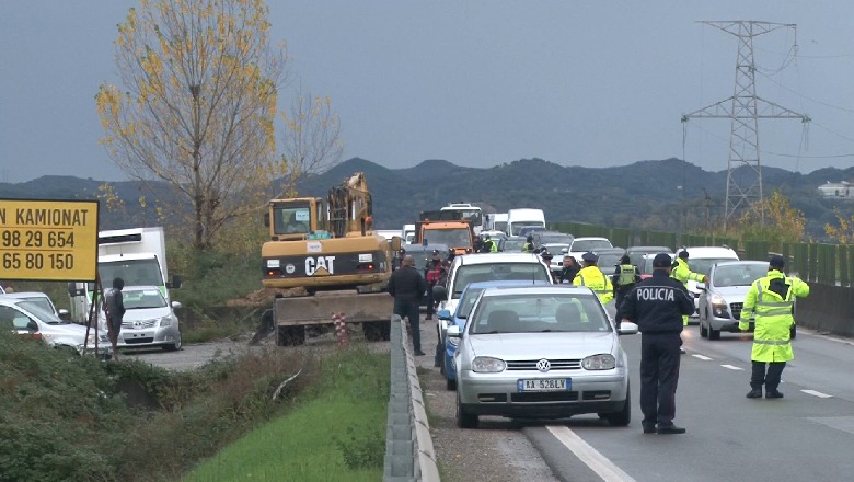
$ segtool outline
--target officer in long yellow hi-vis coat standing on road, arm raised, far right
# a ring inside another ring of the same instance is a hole
[[[784,266],[783,256],[771,256],[768,276],[757,279],[750,286],[738,321],[739,330],[746,331],[750,328],[750,318],[755,317],[753,351],[750,354],[753,370],[747,394],[749,399],[762,398],[763,385],[766,399],[782,399],[783,393],[777,390],[780,376],[786,362],[795,358],[789,338],[789,329],[795,323],[792,311],[795,297],[809,295],[809,285],[783,274]]]

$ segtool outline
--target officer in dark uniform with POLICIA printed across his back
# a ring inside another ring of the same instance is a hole
[[[645,434],[684,434],[673,424],[679,381],[682,315],[694,312],[685,287],[671,278],[670,256],[656,254],[653,277],[636,284],[625,296],[623,322],[637,323],[641,333],[641,410]],[[657,425],[657,426],[656,426]]]

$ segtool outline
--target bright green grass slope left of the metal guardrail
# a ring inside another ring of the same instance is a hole
[[[356,344],[320,362],[289,413],[205,460],[186,482],[382,479],[389,354]]]

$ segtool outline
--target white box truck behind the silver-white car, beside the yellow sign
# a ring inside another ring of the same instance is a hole
[[[159,226],[99,232],[97,275],[104,289],[111,288],[116,277],[125,286],[157,286],[168,306],[172,305],[169,288],[181,287],[181,276],[169,278],[166,243]],[[71,321],[86,322],[94,288],[94,283],[69,283]]]

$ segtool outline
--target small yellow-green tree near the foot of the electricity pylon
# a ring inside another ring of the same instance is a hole
[[[772,251],[785,243],[800,242],[806,227],[804,214],[789,206],[788,198],[778,190],[750,205],[739,218],[737,231],[742,241],[768,241]]]

